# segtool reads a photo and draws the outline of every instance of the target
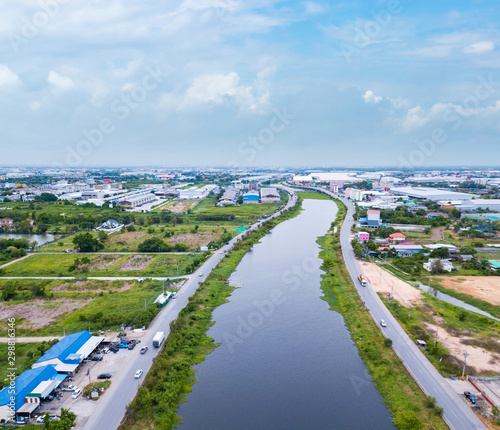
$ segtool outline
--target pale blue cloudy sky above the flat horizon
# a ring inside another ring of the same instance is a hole
[[[500,165],[498,0],[0,8],[0,165]]]

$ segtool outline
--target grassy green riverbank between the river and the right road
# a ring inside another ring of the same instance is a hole
[[[371,380],[384,398],[394,424],[399,429],[447,429],[432,399],[421,391],[392,348],[385,346],[384,337],[366,311],[347,269],[340,248],[340,225],[346,208],[337,201],[339,212],[335,225],[339,232],[327,234],[318,243],[322,247],[322,289],[325,300],[341,313],[345,324],[356,339],[359,354]],[[360,387],[363,381],[358,381]]]

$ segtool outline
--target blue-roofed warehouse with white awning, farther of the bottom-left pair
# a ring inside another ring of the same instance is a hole
[[[87,330],[63,337],[35,363],[33,368],[55,365],[57,372],[71,374],[104,340],[92,336]]]

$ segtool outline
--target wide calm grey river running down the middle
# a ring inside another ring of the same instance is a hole
[[[221,345],[196,366],[182,430],[393,429],[342,315],[321,299],[319,246],[337,206],[304,211],[254,246],[214,312]]]

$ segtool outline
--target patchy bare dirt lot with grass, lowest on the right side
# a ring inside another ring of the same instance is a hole
[[[436,327],[434,325],[424,322],[426,329],[429,333],[436,333]],[[440,342],[450,354],[463,360],[464,351],[469,354],[467,356],[467,364],[474,367],[477,372],[488,372],[488,373],[498,373],[500,366],[500,356],[491,351],[488,351],[479,346],[471,346],[462,342],[462,340],[474,340],[471,337],[455,337],[446,332],[442,327],[438,331],[438,342]]]

